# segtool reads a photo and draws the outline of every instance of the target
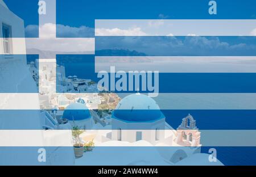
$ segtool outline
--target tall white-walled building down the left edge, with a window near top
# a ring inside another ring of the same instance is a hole
[[[2,0],[0,78],[0,92],[3,93],[0,94],[0,165],[73,165],[75,155],[71,132],[44,130],[55,128],[56,121],[46,112],[39,111],[38,89],[27,66],[24,22]],[[48,161],[39,162],[39,148],[56,146],[55,142],[72,149],[63,155],[60,153],[63,147],[49,148]]]

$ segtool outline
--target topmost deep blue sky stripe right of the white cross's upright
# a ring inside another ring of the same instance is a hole
[[[209,15],[208,2],[209,0],[57,0],[57,23],[73,27],[94,27],[94,19],[256,18],[256,2],[253,0],[216,1],[217,15]]]

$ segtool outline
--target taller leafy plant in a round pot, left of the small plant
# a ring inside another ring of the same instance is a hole
[[[77,158],[82,157],[82,154],[84,153],[84,145],[81,143],[80,140],[80,134],[84,132],[83,130],[80,130],[79,127],[75,126],[72,128],[72,136],[73,140],[75,141],[75,144],[73,145],[74,147],[74,152],[75,156]]]

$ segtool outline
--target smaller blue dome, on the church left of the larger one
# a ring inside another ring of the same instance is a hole
[[[63,118],[68,120],[84,120],[91,117],[89,109],[81,103],[69,104],[63,113]]]

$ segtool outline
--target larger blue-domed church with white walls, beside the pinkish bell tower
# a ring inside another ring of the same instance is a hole
[[[165,121],[154,99],[143,94],[128,95],[112,113],[112,140],[155,144],[164,138]]]

